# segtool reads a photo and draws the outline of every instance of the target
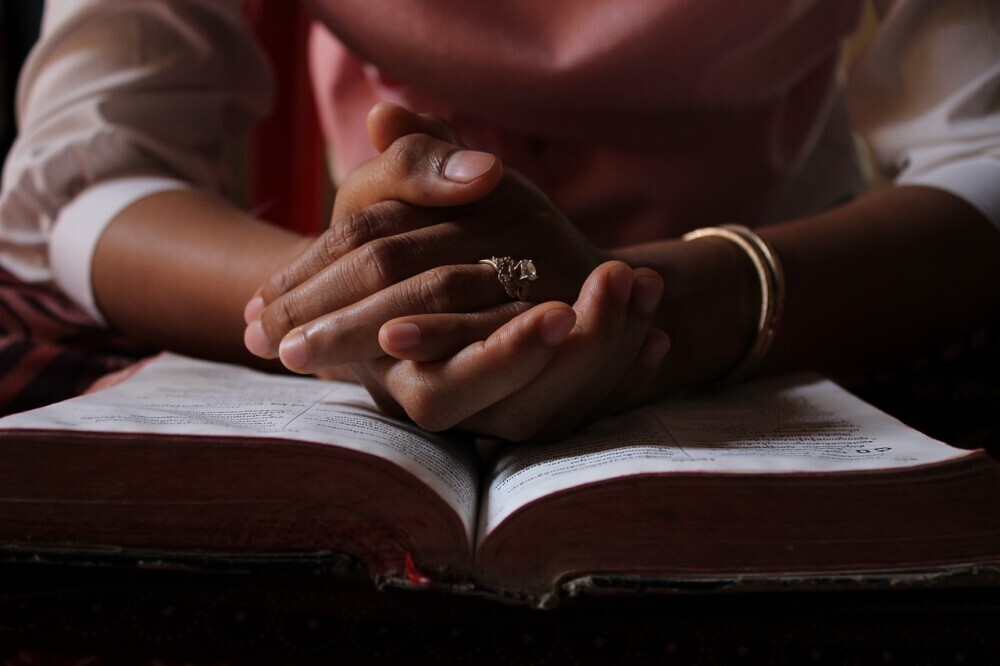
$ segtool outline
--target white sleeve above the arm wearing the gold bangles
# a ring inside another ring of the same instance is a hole
[[[851,72],[855,124],[898,184],[947,190],[1000,229],[1000,2],[882,2]]]

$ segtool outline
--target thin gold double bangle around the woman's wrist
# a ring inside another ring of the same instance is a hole
[[[721,383],[731,384],[753,372],[764,360],[771,343],[778,333],[781,315],[785,305],[785,274],[781,270],[778,255],[768,243],[747,227],[726,224],[721,227],[705,227],[684,234],[682,240],[699,238],[724,238],[735,243],[750,261],[760,282],[760,315],[757,318],[757,333],[750,348],[739,363],[726,373]]]

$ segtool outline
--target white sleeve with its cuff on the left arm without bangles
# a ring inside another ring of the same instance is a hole
[[[56,279],[92,309],[90,257],[106,224],[156,191],[225,189],[226,150],[266,115],[271,79],[241,0],[48,2],[18,86],[0,265]]]

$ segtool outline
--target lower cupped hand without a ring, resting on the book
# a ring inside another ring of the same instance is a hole
[[[383,409],[428,430],[552,440],[643,399],[670,348],[651,326],[662,294],[655,271],[610,261],[591,273],[572,308],[537,305],[440,360],[436,333],[464,315],[388,322],[380,339],[391,356],[351,369]],[[408,341],[416,331],[416,344],[394,344],[399,328]]]

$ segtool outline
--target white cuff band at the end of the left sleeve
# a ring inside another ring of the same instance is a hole
[[[161,176],[131,176],[99,182],[66,204],[49,240],[49,263],[59,287],[98,323],[106,325],[91,284],[94,249],[111,220],[157,192],[191,189],[189,183]]]

